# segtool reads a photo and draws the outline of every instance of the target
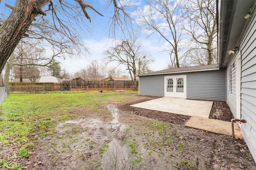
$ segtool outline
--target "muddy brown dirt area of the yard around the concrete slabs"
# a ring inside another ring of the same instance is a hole
[[[38,137],[30,156],[14,161],[30,170],[256,169],[243,139],[184,127],[189,116],[130,107],[157,97],[117,95],[122,100],[98,101],[94,113],[73,108],[76,117]],[[210,119],[230,121],[227,104],[214,102]],[[5,147],[2,157],[16,150]]]

